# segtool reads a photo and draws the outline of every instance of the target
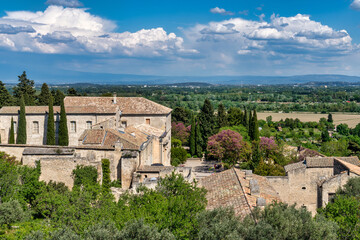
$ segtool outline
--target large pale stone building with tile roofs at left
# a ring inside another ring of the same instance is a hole
[[[48,107],[27,106],[27,144],[8,142],[11,118],[17,129],[19,107],[0,109],[0,151],[23,164],[42,164],[43,180],[72,186],[76,165],[93,165],[101,176],[101,159],[111,162],[111,179],[131,187],[133,172],[143,166],[170,166],[171,109],[141,97],[66,97],[69,147],[45,146]],[[56,138],[60,117],[54,107]],[[16,137],[16,136],[15,136]]]

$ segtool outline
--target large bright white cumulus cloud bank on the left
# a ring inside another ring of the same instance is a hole
[[[0,46],[14,51],[41,53],[110,53],[149,57],[196,53],[183,47],[182,38],[167,33],[163,28],[133,33],[117,33],[115,28],[112,21],[81,8],[52,5],[44,12],[6,12],[6,16],[0,18]]]

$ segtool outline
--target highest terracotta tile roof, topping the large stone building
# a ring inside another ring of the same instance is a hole
[[[65,106],[118,106],[122,114],[169,114],[172,109],[143,97],[66,97]]]

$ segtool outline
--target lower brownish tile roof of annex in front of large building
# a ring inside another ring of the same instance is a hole
[[[115,147],[121,143],[123,149],[141,150],[142,145],[148,141],[148,136],[140,131],[118,131],[115,129],[89,129],[80,136],[83,145],[96,145]]]

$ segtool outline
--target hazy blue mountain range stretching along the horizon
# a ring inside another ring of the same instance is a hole
[[[84,80],[86,79],[86,80]],[[34,79],[36,83],[38,80]],[[360,83],[360,77],[347,75],[299,75],[299,76],[151,76],[131,74],[74,73],[64,77],[52,76],[40,81],[51,85],[72,83],[108,84],[108,85],[284,85],[312,83]],[[9,82],[16,84],[17,82]]]

